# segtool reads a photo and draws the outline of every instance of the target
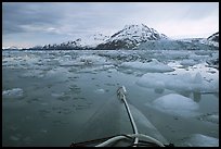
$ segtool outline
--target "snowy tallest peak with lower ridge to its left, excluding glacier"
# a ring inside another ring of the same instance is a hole
[[[74,40],[60,45],[46,45],[42,49],[134,49],[142,42],[167,38],[166,35],[159,34],[144,24],[130,24],[110,37],[101,33],[78,36]]]

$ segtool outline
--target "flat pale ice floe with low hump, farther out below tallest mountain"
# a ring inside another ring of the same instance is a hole
[[[135,70],[141,70],[145,72],[172,72],[173,69],[170,67],[169,65],[166,65],[164,63],[160,63],[156,59],[152,59],[151,62],[148,63],[143,63],[143,62],[123,62],[120,66],[126,67],[126,69],[135,69]]]

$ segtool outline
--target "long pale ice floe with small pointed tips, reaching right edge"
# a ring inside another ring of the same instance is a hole
[[[207,82],[200,73],[161,74],[147,73],[138,79],[136,84],[147,88],[167,88],[176,91],[219,92],[218,80]]]

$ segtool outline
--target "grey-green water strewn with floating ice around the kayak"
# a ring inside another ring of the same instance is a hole
[[[121,108],[112,104],[123,85],[140,133],[148,120],[174,145],[198,146],[204,139],[203,145],[217,146],[219,70],[206,62],[218,55],[208,50],[3,51],[2,145],[69,146],[88,139],[88,133],[131,131]],[[94,124],[96,119],[104,125]]]

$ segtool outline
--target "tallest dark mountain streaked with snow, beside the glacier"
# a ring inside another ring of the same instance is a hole
[[[99,45],[96,49],[134,49],[141,42],[167,38],[166,35],[159,34],[154,28],[150,28],[144,24],[126,25],[123,29],[117,32],[105,42]]]

